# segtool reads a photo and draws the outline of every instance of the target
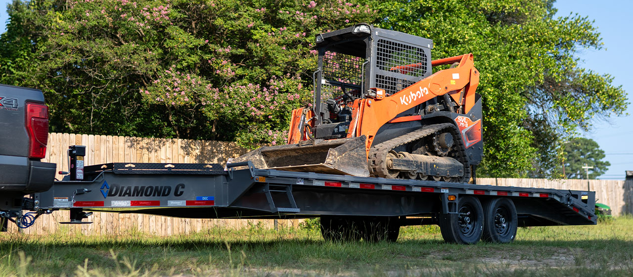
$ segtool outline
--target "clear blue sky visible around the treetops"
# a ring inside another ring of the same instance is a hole
[[[9,1],[0,0],[0,24],[3,32],[8,16],[6,14],[6,4]],[[579,13],[589,16],[595,20],[594,26],[605,43],[605,48],[596,51],[582,49],[577,56],[582,59],[582,66],[594,70],[598,73],[609,73],[613,75],[613,84],[622,85],[624,90],[633,92],[633,69],[627,60],[629,49],[633,45],[633,23],[630,21],[633,1],[577,1],[559,0],[554,4],[558,9],[559,16]],[[629,78],[627,78],[629,77]],[[633,114],[633,106],[629,106],[627,113]],[[596,140],[601,149],[606,152],[606,161],[611,163],[609,170],[600,178],[624,179],[625,170],[633,170],[633,147],[627,146],[626,142],[633,137],[633,116],[620,116],[610,118],[608,121],[594,122],[591,132],[583,133],[584,137]]]

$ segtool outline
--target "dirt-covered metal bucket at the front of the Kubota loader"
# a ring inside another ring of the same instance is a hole
[[[365,136],[264,146],[233,160],[251,161],[256,168],[367,177]]]

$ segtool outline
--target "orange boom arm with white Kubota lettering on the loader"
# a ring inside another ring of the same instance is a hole
[[[432,61],[433,66],[447,65],[459,61],[454,68],[437,71],[430,77],[414,83],[406,89],[383,99],[356,99],[353,103],[352,121],[348,137],[367,136],[367,151],[382,125],[423,102],[449,94],[462,107],[464,114],[475,104],[475,90],[479,84],[479,71],[475,68],[473,54]],[[394,70],[415,68],[413,65],[398,66]]]

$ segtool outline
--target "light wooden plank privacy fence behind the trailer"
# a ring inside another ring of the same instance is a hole
[[[118,137],[106,135],[75,135],[51,133],[44,161],[56,163],[58,171],[68,171],[66,150],[69,145],[85,145],[85,164],[102,163],[226,163],[229,157],[246,153],[246,149],[234,142],[210,140],[153,139],[138,137]],[[61,175],[56,178],[61,179]],[[539,187],[571,190],[586,190],[586,180],[545,180],[478,178],[477,183],[513,186]],[[596,190],[599,202],[611,206],[613,214],[633,214],[633,179],[591,180],[591,190]],[[115,212],[95,212],[87,221],[90,225],[60,225],[68,221],[68,211],[55,211],[41,216],[35,225],[22,230],[24,233],[44,235],[61,228],[70,233],[84,235],[120,235],[127,232],[142,232],[153,235],[179,235],[211,228],[241,228],[251,225],[272,227],[272,219],[186,219],[147,214],[118,214]],[[299,225],[300,220],[282,220],[280,226]],[[18,231],[9,225],[9,231]],[[63,227],[62,227],[63,226]]]

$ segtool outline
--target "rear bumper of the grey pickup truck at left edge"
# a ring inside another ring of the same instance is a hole
[[[0,192],[31,194],[53,186],[56,164],[0,155]]]

